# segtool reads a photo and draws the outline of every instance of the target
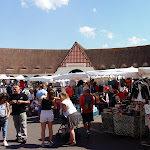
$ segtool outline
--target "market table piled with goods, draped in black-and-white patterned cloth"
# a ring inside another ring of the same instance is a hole
[[[134,138],[149,134],[145,125],[144,107],[138,102],[123,101],[115,107],[104,109],[101,116],[102,129],[105,132]]]

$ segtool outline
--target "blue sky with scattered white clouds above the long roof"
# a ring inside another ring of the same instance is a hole
[[[0,48],[150,44],[150,0],[1,0]]]

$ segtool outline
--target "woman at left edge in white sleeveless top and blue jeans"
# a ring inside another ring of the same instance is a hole
[[[8,118],[10,116],[8,99],[9,95],[7,93],[0,94],[0,131],[2,128],[4,146],[8,146],[8,143],[6,141]]]

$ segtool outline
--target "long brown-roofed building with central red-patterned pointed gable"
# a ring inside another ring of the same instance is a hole
[[[0,74],[27,77],[109,68],[150,66],[150,45],[85,49],[77,42],[71,49],[0,48]]]

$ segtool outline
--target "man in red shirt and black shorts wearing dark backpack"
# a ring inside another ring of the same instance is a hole
[[[95,104],[94,96],[90,94],[89,86],[83,87],[83,94],[80,96],[79,104],[82,110],[82,119],[87,136],[90,135],[91,121],[93,119],[93,106]]]

